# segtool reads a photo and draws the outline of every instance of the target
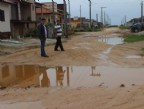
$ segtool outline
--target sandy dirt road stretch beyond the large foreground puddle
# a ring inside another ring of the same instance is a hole
[[[121,30],[111,28],[97,33],[81,33],[63,43],[66,51],[54,51],[53,45],[46,46],[48,58],[40,56],[39,47],[1,56],[3,63],[38,64],[46,66],[96,66],[121,65],[144,66],[140,56],[143,42],[123,43]],[[23,47],[24,48],[24,47]],[[10,49],[9,49],[10,50]]]

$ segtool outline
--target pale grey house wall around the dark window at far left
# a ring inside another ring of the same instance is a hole
[[[0,3],[0,9],[4,10],[5,21],[0,21],[0,32],[10,32],[10,12],[11,6],[6,3]]]

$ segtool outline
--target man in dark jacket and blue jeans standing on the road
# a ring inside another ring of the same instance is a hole
[[[48,55],[45,52],[45,43],[46,38],[48,37],[48,30],[45,26],[46,19],[42,18],[41,23],[38,25],[38,33],[39,33],[39,39],[41,43],[41,56],[42,57],[48,57]]]

